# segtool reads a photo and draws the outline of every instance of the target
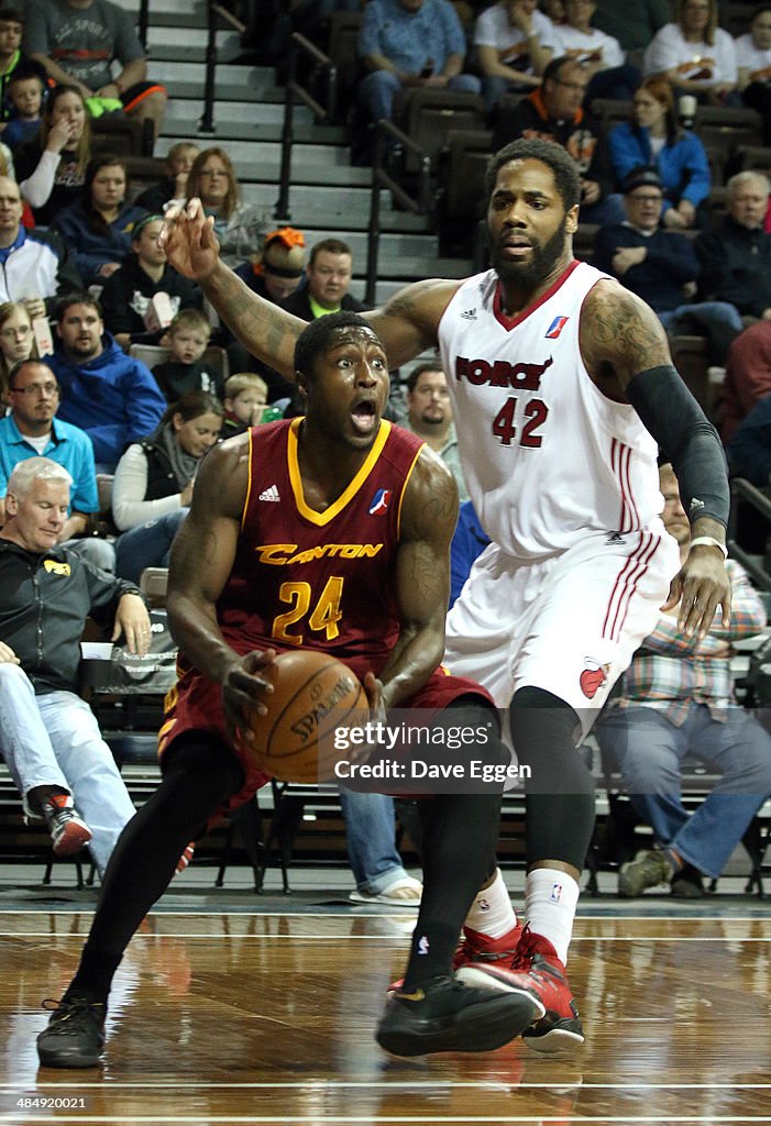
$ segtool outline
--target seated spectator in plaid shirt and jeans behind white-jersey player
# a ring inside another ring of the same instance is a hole
[[[661,481],[664,524],[684,558],[691,529],[671,466],[662,468]],[[730,671],[732,642],[760,633],[765,613],[738,563],[728,560],[726,568],[730,622],[718,614],[705,637],[687,638],[676,607],[662,614],[594,729],[656,839],[655,849],[621,867],[625,897],[660,884],[676,896],[701,895],[701,876],[717,879],[771,792],[771,736],[736,703]],[[721,775],[690,816],[680,792],[687,754]]]

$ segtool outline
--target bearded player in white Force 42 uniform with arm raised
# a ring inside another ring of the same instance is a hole
[[[576,747],[662,604],[680,600],[689,635],[706,634],[718,605],[728,615],[729,494],[719,439],[657,318],[573,259],[571,158],[550,142],[516,141],[493,157],[486,187],[493,268],[418,283],[366,315],[394,367],[441,348],[464,474],[492,540],[449,615],[446,661],[509,708],[519,761],[532,771],[527,926],[491,857],[456,968],[537,998],[546,1016],[523,1036],[554,1052],[583,1042],[565,962],[594,794]],[[172,266],[199,282],[250,351],[290,376],[303,322],[219,261],[197,200],[165,230]],[[657,447],[692,524],[682,566],[660,519]],[[414,948],[420,939],[415,931]]]

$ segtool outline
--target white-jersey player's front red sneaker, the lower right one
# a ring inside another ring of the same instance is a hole
[[[510,963],[477,960],[461,967],[458,977],[472,985],[528,993],[546,1009],[540,1020],[522,1033],[525,1043],[536,1052],[552,1054],[570,1051],[584,1042],[565,967],[557,953],[529,927],[522,930]]]

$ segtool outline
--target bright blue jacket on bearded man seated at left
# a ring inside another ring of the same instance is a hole
[[[102,345],[104,351],[84,364],[57,345],[46,364],[62,388],[57,418],[86,430],[96,461],[115,466],[129,443],[155,429],[167,402],[145,364],[126,356],[109,332]]]

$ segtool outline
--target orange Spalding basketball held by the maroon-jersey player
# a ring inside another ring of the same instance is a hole
[[[267,715],[253,714],[245,743],[258,765],[280,781],[329,781],[343,757],[334,747],[334,729],[359,726],[369,718],[367,695],[348,665],[325,653],[279,653],[260,670],[274,686],[262,703]]]

